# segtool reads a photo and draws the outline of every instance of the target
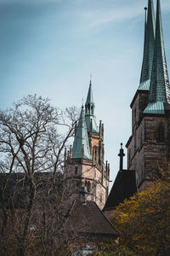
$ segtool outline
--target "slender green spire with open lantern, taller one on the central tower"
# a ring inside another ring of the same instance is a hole
[[[98,132],[98,126],[96,124],[96,120],[94,117],[94,96],[92,91],[92,81],[90,80],[89,89],[88,89],[88,97],[85,104],[86,108],[86,124],[88,127],[88,131],[92,129],[94,132]]]

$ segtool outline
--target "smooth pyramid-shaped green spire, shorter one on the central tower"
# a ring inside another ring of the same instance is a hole
[[[72,158],[73,159],[92,159],[90,154],[89,144],[88,144],[88,131],[85,119],[84,108],[82,106],[82,111],[80,114],[80,119],[77,125],[76,136],[72,148]]]

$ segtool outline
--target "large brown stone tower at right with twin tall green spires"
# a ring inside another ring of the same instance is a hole
[[[144,32],[144,59],[139,88],[133,97],[132,136],[127,142],[127,168],[136,171],[138,190],[169,160],[170,86],[161,24],[160,0],[148,2]]]

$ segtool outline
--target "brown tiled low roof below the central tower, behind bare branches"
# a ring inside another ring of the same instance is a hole
[[[77,201],[72,207],[68,223],[72,230],[78,229],[80,233],[85,233],[89,236],[109,236],[114,238],[119,236],[119,232],[94,201],[86,201],[86,203]]]

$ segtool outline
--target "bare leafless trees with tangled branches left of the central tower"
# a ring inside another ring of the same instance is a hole
[[[60,110],[36,95],[0,111],[0,250],[4,255],[62,255],[61,246],[75,239],[65,230],[69,193],[62,172],[64,148],[76,121],[77,108]]]

